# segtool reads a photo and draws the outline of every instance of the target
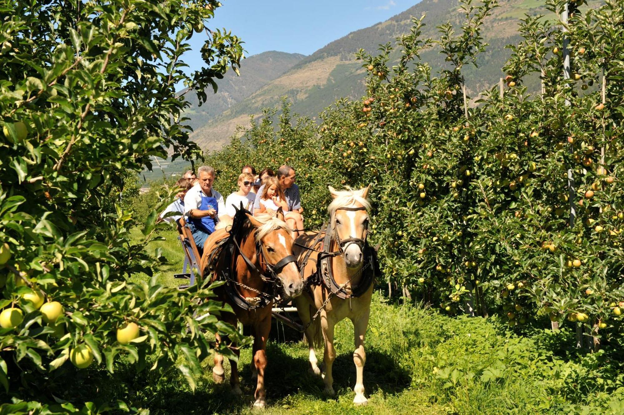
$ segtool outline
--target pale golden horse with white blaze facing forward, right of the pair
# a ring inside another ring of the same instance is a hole
[[[334,326],[344,318],[349,318],[353,322],[355,335],[355,404],[368,402],[364,396],[363,384],[366,363],[364,336],[368,326],[373,295],[372,282],[376,269],[376,257],[366,244],[368,209],[371,206],[367,199],[368,191],[369,187],[336,191],[329,186],[329,193],[334,200],[328,207],[328,230],[307,232],[295,241],[295,255],[303,270],[303,277],[311,279],[308,281],[311,292],[306,290],[295,299],[299,316],[306,327],[311,370],[315,374],[321,374],[314,345],[321,343],[322,332],[325,346],[324,392],[333,395],[331,366],[336,358]],[[309,258],[306,258],[308,255]],[[313,323],[310,323],[315,316]]]

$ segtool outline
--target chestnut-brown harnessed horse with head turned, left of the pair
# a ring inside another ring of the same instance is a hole
[[[293,239],[286,226],[283,212],[276,217],[253,217],[239,212],[232,231],[220,229],[206,242],[202,269],[214,269],[213,280],[226,284],[215,289],[218,299],[232,306],[234,314],[224,313],[220,318],[236,326],[236,322],[251,326],[253,335],[252,371],[258,381],[254,406],[263,408],[265,399],[266,340],[271,330],[271,308],[275,286],[281,288],[282,297],[296,297],[303,290],[303,280],[293,256]],[[230,236],[228,242],[217,246],[218,241]],[[223,248],[218,255],[215,249]],[[213,259],[216,258],[216,263]],[[205,273],[204,275],[207,275]],[[217,341],[221,339],[217,336]],[[235,353],[239,353],[238,350]],[[230,360],[230,385],[232,392],[241,394],[236,361]],[[225,379],[223,356],[215,354],[212,370],[217,383]]]

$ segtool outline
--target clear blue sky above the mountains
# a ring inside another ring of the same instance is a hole
[[[372,26],[420,0],[221,0],[210,28],[232,31],[245,42],[246,56],[280,50],[310,55],[349,32]],[[193,36],[183,60],[196,70],[205,37]]]

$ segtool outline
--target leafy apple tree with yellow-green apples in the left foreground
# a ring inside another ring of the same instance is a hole
[[[242,57],[237,37],[212,31],[202,48],[207,66],[183,72],[186,42],[193,32],[208,33],[204,22],[219,5],[0,1],[0,307],[23,315],[0,329],[0,388],[12,399],[4,413],[57,411],[49,403],[77,373],[67,360],[85,367],[93,359],[88,371],[101,365],[111,373],[121,356],[137,371],[176,365],[193,387],[210,350],[203,331],[245,344],[239,330],[217,322],[231,309],[207,300],[214,285],[180,292],[155,279],[126,280],[152,275],[162,260],[145,247],[172,198],[149,206],[144,239],[134,243],[137,216],[125,210],[125,199],[138,188],[129,178],[168,148],[173,158],[200,154],[183,128],[188,104],[175,85],[183,82],[205,100],[204,88],[236,70]],[[60,303],[61,315],[48,317],[37,297]],[[117,341],[126,323],[139,333]],[[90,356],[74,361],[72,351],[84,345]],[[63,408],[114,409],[99,405]]]

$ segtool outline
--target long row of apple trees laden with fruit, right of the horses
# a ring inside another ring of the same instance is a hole
[[[547,7],[557,16],[565,4]],[[476,107],[466,104],[464,72],[479,70],[494,1],[462,2],[461,29],[441,25],[439,39],[422,36],[426,17],[414,19],[397,40],[401,57],[392,67],[391,44],[378,55],[361,50],[366,97],[334,103],[318,131],[286,107],[274,132],[276,115],[266,112],[211,160],[228,180],[250,162],[293,165],[306,226],[326,216],[328,184],[373,183],[371,238],[389,283],[449,313],[500,312],[512,326],[548,315],[584,328],[592,348],[618,344],[624,9],[610,1],[567,5],[567,23],[522,20],[519,42],[509,45],[506,87],[484,91]],[[448,64],[438,74],[419,59],[433,44]],[[536,77],[543,92],[529,94],[526,83]]]

